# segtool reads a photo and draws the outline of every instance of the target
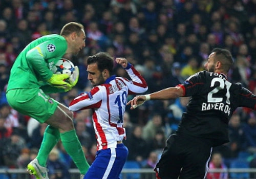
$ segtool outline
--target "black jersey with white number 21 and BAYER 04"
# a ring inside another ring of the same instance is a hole
[[[228,122],[237,107],[256,109],[256,96],[239,83],[227,81],[224,74],[202,71],[183,85],[184,96],[191,96],[177,134],[212,139],[217,146],[229,141]]]

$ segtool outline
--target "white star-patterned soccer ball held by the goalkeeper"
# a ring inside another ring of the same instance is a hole
[[[61,58],[55,65],[53,65],[52,72],[54,74],[69,74],[70,77],[72,77],[75,70],[74,67],[74,64],[70,60]]]

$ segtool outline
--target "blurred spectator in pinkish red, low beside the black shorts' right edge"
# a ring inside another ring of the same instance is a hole
[[[225,164],[222,161],[221,153],[213,153],[211,156],[211,160],[209,163],[209,169],[227,169]],[[207,179],[227,179],[228,173],[227,172],[208,172]]]

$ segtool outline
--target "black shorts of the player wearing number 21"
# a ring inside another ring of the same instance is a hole
[[[212,151],[208,139],[188,135],[171,135],[155,167],[160,179],[205,178]]]

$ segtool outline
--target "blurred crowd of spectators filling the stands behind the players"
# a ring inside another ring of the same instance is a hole
[[[5,98],[10,68],[20,51],[32,40],[59,33],[61,27],[78,21],[86,29],[86,48],[78,56],[66,55],[78,66],[77,85],[67,93],[51,94],[65,105],[91,88],[87,58],[108,52],[125,57],[143,75],[151,93],[182,83],[204,70],[213,48],[232,53],[231,82],[241,82],[256,94],[256,1],[255,0],[0,0],[0,167],[25,168],[36,155],[46,124],[17,113]],[[127,77],[115,64],[118,76]],[[129,97],[132,99],[133,97]],[[188,98],[147,101],[135,110],[127,106],[124,117],[129,161],[153,167],[165,140],[177,129]],[[214,148],[212,163],[222,158],[243,159],[255,166],[256,113],[239,108],[230,119],[230,142]],[[78,138],[89,163],[95,159],[95,135],[91,111],[74,116]],[[153,161],[152,161],[153,160]],[[63,166],[62,166],[63,165]],[[66,168],[75,168],[61,143],[49,156],[52,178],[69,178]],[[63,173],[55,173],[54,170]],[[219,178],[226,175],[218,175]],[[211,175],[208,178],[213,178]],[[216,178],[216,177],[214,177]]]

